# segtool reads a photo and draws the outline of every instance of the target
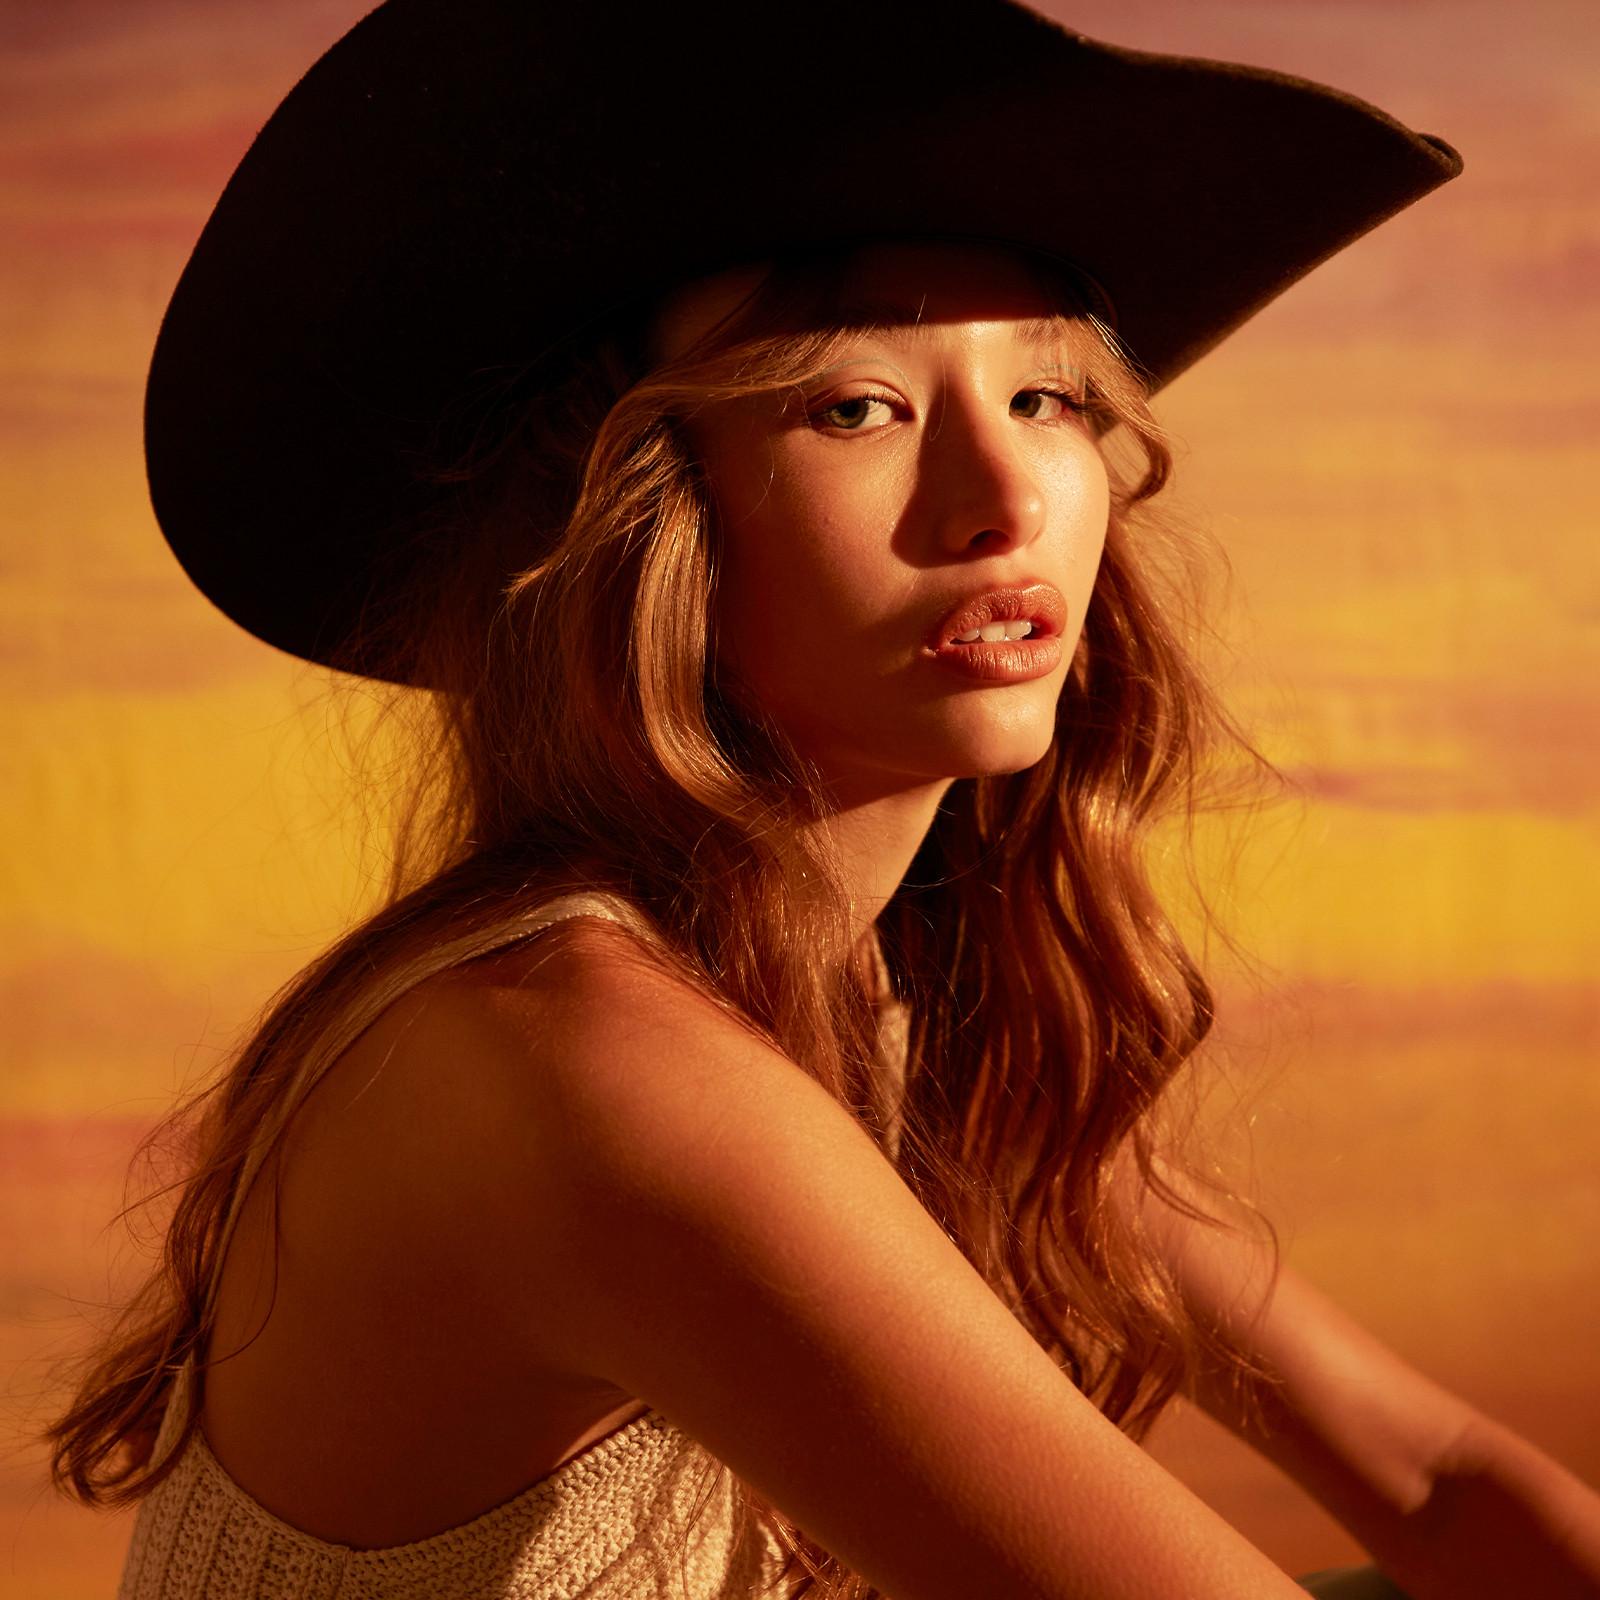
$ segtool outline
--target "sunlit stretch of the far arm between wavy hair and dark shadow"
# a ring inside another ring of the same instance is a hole
[[[1202,1210],[1218,1210],[1166,1176]],[[1243,1394],[1226,1374],[1203,1373],[1194,1398],[1382,1549],[1477,1413],[1280,1267],[1246,1219],[1210,1227],[1154,1197],[1146,1218],[1189,1309],[1262,1370]]]

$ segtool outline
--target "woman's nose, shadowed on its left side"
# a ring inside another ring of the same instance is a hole
[[[946,397],[923,443],[923,483],[947,555],[1002,555],[1045,530],[1045,488],[1016,422]]]

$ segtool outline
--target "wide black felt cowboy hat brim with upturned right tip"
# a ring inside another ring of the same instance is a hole
[[[440,418],[654,288],[829,242],[992,238],[1078,262],[1154,390],[1459,171],[1354,96],[1010,0],[840,24],[387,0],[195,245],[150,365],[150,498],[227,616],[363,670],[352,627],[442,493],[418,470]]]

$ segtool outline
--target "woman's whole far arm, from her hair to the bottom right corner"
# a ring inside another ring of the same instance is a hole
[[[1413,1600],[1600,1600],[1600,1496],[1243,1234],[1152,1213],[1186,1302],[1267,1376],[1192,1397],[1322,1501]]]

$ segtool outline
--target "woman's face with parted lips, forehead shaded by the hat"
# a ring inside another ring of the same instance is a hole
[[[752,282],[669,304],[659,354]],[[1072,352],[1024,326],[1058,307],[1011,254],[947,245],[861,251],[843,302],[902,315],[798,390],[688,424],[718,662],[843,802],[1019,771],[1054,734],[1109,512]]]

